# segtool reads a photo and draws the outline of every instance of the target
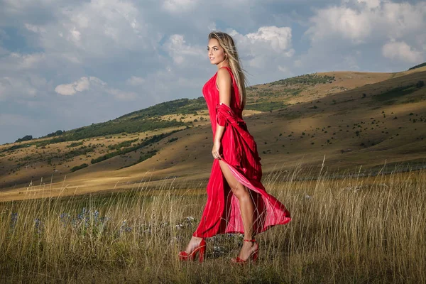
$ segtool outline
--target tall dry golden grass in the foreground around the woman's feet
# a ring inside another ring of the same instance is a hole
[[[330,178],[295,167],[263,178],[293,220],[257,236],[255,266],[232,266],[239,234],[178,261],[204,186],[164,180],[128,192],[0,203],[4,283],[426,283],[426,171]],[[341,174],[339,173],[339,176]],[[283,182],[285,180],[285,182]]]

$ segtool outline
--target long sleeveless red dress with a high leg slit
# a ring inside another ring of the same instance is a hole
[[[253,234],[266,231],[271,226],[290,222],[290,212],[275,197],[269,195],[261,183],[261,158],[257,145],[249,133],[239,107],[239,89],[231,68],[225,67],[232,78],[231,104],[219,104],[217,73],[204,84],[202,94],[207,102],[213,137],[216,125],[225,126],[221,140],[222,160],[228,165],[236,180],[245,185],[254,202]],[[239,200],[232,193],[219,165],[214,159],[207,184],[207,203],[200,224],[193,236],[210,237],[225,233],[244,234]]]

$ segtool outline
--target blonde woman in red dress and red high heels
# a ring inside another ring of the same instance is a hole
[[[261,183],[261,158],[242,119],[246,79],[234,40],[226,33],[212,32],[207,51],[210,62],[218,68],[202,88],[212,122],[214,161],[200,224],[179,257],[193,260],[198,253],[204,261],[204,238],[239,232],[244,233],[243,246],[231,262],[256,261],[258,244],[253,237],[290,222],[290,212]]]

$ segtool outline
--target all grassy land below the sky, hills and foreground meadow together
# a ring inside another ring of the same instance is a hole
[[[0,283],[426,283],[426,67],[248,88],[263,185],[292,221],[178,261],[206,201],[204,98],[0,145]]]

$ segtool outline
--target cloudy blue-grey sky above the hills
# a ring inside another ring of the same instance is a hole
[[[202,96],[207,35],[249,84],[426,60],[426,1],[0,0],[0,144]]]

